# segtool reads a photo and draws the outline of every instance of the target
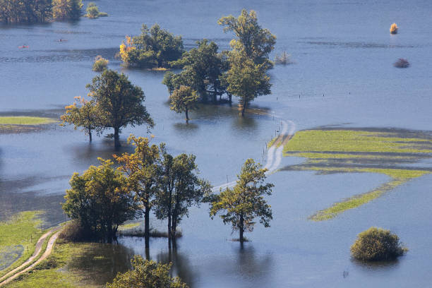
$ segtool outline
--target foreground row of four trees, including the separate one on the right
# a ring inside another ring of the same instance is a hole
[[[164,143],[150,145],[143,137],[129,137],[136,146],[132,154],[114,155],[118,164],[100,160],[82,175],[73,174],[71,188],[66,191],[63,209],[78,222],[79,234],[90,240],[111,242],[120,224],[143,215],[145,246],[150,239],[150,213],[167,220],[169,243],[175,245],[179,223],[193,205],[210,203],[210,217],[220,213],[224,224],[239,231],[251,232],[256,217],[270,226],[272,211],[264,199],[271,194],[272,184],[264,184],[266,169],[253,160],[246,161],[234,188],[219,195],[212,194],[210,182],[197,176],[194,155],[170,155]]]

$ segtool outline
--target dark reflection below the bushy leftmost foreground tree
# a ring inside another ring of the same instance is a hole
[[[103,285],[131,269],[131,258],[133,250],[121,244],[93,244],[72,258],[68,270],[85,276],[84,282]]]

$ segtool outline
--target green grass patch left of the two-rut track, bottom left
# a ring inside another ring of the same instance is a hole
[[[0,270],[0,277],[32,256],[37,240],[43,234],[40,229],[42,221],[38,218],[41,214],[42,211],[26,211],[15,215],[7,222],[0,222],[0,252],[5,255],[11,247],[23,246],[23,253],[20,256],[17,255],[18,257],[14,259],[11,265]],[[11,258],[0,258],[0,265],[6,261],[10,263]]]

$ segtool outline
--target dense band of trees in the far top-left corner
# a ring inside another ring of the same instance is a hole
[[[81,0],[0,0],[0,22],[32,23],[54,19],[78,19]]]

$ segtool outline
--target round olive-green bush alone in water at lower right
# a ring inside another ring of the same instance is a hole
[[[351,246],[351,255],[357,260],[392,260],[408,251],[400,244],[399,237],[390,230],[371,227],[357,235]]]

